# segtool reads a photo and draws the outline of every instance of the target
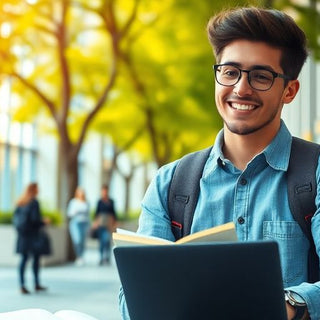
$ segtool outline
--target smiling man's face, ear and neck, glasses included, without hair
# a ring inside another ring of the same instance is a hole
[[[265,42],[239,39],[224,48],[214,66],[223,154],[238,169],[276,136],[283,104],[298,91],[298,80],[283,74],[281,56],[281,49]]]

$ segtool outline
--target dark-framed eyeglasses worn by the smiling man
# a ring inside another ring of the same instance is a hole
[[[215,64],[213,66],[216,81],[226,87],[236,85],[241,77],[242,72],[248,74],[248,83],[251,88],[259,91],[269,90],[275,78],[290,80],[290,77],[264,68],[255,68],[252,70],[243,70],[232,64]]]

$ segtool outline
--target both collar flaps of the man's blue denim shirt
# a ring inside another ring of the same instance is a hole
[[[223,129],[217,134],[215,144],[211,150],[210,157],[207,161],[205,174],[209,173],[207,170],[214,170],[217,165],[225,161],[222,153],[223,146]],[[292,136],[281,120],[280,129],[271,143],[262,151],[268,165],[275,170],[286,171],[289,166],[290,151],[291,151]],[[209,169],[211,168],[211,169]]]

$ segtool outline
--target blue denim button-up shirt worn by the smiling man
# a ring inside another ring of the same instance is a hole
[[[200,195],[191,233],[233,221],[240,241],[275,240],[279,244],[285,288],[300,294],[312,320],[320,319],[320,282],[306,283],[309,243],[289,209],[286,170],[292,136],[281,127],[266,149],[244,171],[222,154],[223,130],[216,138],[200,180]],[[174,240],[167,209],[167,190],[179,160],[163,166],[142,202],[139,233]],[[317,212],[312,233],[320,256],[320,166],[317,169]],[[241,223],[239,223],[241,221]],[[123,319],[130,319],[120,290]]]

